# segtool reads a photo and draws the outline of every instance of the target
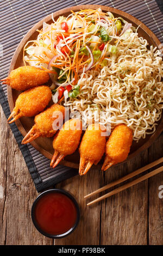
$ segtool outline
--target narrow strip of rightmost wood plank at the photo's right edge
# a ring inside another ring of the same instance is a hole
[[[163,134],[148,149],[149,162],[163,155]],[[159,186],[163,185],[163,173],[149,179],[149,245],[163,244],[163,198],[159,198]]]

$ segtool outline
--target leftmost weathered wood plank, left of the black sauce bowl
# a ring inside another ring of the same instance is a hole
[[[52,245],[41,235],[30,217],[37,196],[26,163],[1,109],[1,172],[4,196],[0,198],[1,245]]]

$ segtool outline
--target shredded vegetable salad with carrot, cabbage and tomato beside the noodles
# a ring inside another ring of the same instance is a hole
[[[43,22],[36,40],[24,46],[25,65],[49,73],[54,103],[77,97],[82,90],[78,80],[87,70],[102,69],[106,57],[116,54],[121,35],[132,26],[121,17],[97,10],[80,10],[57,21]]]

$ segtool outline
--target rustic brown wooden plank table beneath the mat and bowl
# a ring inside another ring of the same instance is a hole
[[[77,198],[81,219],[73,234],[53,240],[41,235],[30,217],[38,193],[1,108],[1,245],[163,245],[163,173],[90,207],[84,195],[162,156],[161,135],[133,160],[108,172],[89,172],[58,184]],[[3,192],[3,193],[2,193]]]

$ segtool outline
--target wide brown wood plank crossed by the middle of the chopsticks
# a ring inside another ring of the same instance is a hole
[[[104,173],[105,185],[146,164],[147,150],[133,160],[106,171]],[[101,245],[146,245],[147,213],[148,181],[103,200]]]

